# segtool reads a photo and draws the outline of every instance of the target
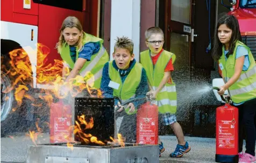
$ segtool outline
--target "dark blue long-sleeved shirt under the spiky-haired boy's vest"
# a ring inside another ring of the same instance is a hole
[[[124,83],[124,80],[126,77],[129,75],[131,69],[135,65],[136,60],[134,59],[130,63],[130,67],[127,70],[120,70],[118,69],[115,60],[113,60],[112,64],[113,67],[119,72],[120,77],[122,79],[122,83]],[[101,91],[103,92],[103,96],[106,98],[113,98],[113,88],[109,87],[109,82],[110,82],[110,77],[109,77],[109,62],[105,63],[103,67],[103,72],[102,72],[102,79],[101,79]],[[136,93],[135,93],[135,98],[144,98],[146,96],[146,93],[149,91],[149,87],[147,85],[147,75],[146,71],[143,68],[142,73],[141,73],[141,80],[140,84],[137,87]],[[120,101],[120,99],[115,99],[115,105],[117,105],[117,102]],[[136,109],[140,107],[143,103],[145,103],[146,100],[137,100],[132,102],[133,105],[135,106]]]

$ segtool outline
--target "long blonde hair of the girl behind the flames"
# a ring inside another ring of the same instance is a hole
[[[77,19],[76,17],[67,17],[62,25],[61,25],[61,28],[60,28],[60,37],[59,37],[59,41],[56,43],[56,47],[58,49],[58,52],[60,53],[61,52],[61,48],[63,46],[63,44],[65,44],[65,39],[64,39],[64,36],[62,34],[63,30],[65,28],[73,28],[73,27],[76,27],[77,29],[79,29],[79,31],[82,33],[81,36],[79,37],[79,40],[77,41],[77,44],[76,44],[76,48],[77,50],[81,51],[83,49],[83,38],[84,38],[84,34],[83,34],[83,28],[82,28],[82,25],[79,21],[79,19]]]

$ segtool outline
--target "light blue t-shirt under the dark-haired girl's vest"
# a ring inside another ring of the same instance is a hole
[[[225,54],[225,59],[227,60],[226,58],[226,54],[228,53],[229,51],[227,50],[224,50],[224,54]],[[245,47],[243,46],[238,46],[237,47],[237,53],[236,53],[236,59],[241,57],[241,56],[245,56],[245,60],[244,60],[244,65],[243,65],[243,71],[247,71],[249,66],[250,66],[250,62],[249,62],[249,57],[248,57],[248,51]],[[235,106],[238,106],[238,105],[241,105],[243,104],[244,102],[240,102],[240,103],[234,103],[233,102],[233,105]]]

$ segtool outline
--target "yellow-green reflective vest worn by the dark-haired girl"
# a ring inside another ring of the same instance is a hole
[[[229,87],[230,97],[235,103],[244,102],[256,97],[256,64],[251,53],[250,48],[244,45],[244,43],[237,41],[236,47],[234,48],[233,54],[231,54],[227,60],[224,56],[224,46],[222,48],[223,53],[219,59],[219,63],[223,64],[224,69],[222,70],[222,76],[224,81],[228,82],[234,75],[234,68],[236,64],[236,51],[237,47],[242,46],[248,51],[248,59],[250,66],[247,71],[241,71],[241,75],[236,83]]]

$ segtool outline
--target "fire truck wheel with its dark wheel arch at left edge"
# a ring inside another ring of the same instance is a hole
[[[1,137],[25,132],[27,126],[30,125],[26,120],[26,115],[31,102],[23,99],[22,104],[18,106],[14,96],[15,90],[4,91],[5,87],[12,85],[18,77],[18,75],[13,76],[8,73],[11,68],[9,53],[20,48],[22,47],[15,41],[1,39]],[[23,84],[29,87],[29,82],[23,81]],[[19,84],[18,82],[16,86]]]

